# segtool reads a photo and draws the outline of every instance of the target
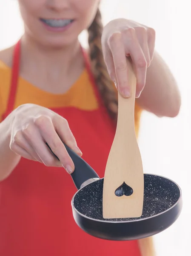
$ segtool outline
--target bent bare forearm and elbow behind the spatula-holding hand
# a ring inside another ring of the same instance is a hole
[[[137,103],[157,116],[177,116],[181,99],[177,83],[169,67],[155,52],[147,70],[146,84]]]

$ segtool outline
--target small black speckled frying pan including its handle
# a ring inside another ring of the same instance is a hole
[[[65,145],[74,162],[71,174],[78,191],[71,200],[76,224],[91,236],[107,240],[135,240],[170,227],[182,210],[182,193],[174,181],[144,174],[143,214],[139,218],[103,218],[103,182],[97,173]]]

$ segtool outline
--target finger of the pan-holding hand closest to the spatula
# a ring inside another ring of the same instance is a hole
[[[76,152],[81,157],[82,151],[77,146],[76,139],[70,130],[67,120],[57,115],[52,119],[52,122],[55,131],[57,132],[62,142],[66,143],[66,145],[68,145],[69,148],[74,150],[74,152]]]

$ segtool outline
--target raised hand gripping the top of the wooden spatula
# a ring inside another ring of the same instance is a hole
[[[145,86],[146,71],[154,55],[154,29],[126,19],[110,21],[103,29],[103,57],[111,79],[124,97],[130,96],[126,57],[131,56],[138,98]]]

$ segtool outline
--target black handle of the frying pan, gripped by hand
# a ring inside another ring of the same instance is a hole
[[[49,147],[49,145],[47,143],[46,143],[46,145],[51,150],[51,148]],[[67,150],[69,156],[71,157],[72,161],[74,162],[75,169],[74,169],[74,172],[71,174],[71,177],[72,177],[72,180],[74,181],[74,184],[77,187],[77,189],[80,189],[80,186],[86,180],[89,180],[92,178],[100,178],[97,175],[97,173],[94,171],[94,169],[92,169],[91,166],[89,166],[88,163],[86,163],[86,161],[84,161],[82,157],[78,156],[65,143],[64,143],[64,145],[66,147],[66,150]],[[58,159],[58,157],[55,154],[54,154],[54,156]]]

